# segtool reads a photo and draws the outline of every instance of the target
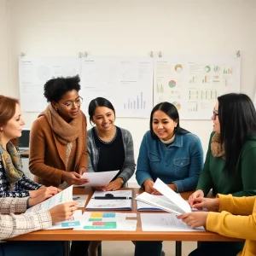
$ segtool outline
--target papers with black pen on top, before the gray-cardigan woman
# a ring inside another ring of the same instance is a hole
[[[112,199],[110,199],[112,198]],[[131,210],[132,190],[95,191],[86,210]]]

